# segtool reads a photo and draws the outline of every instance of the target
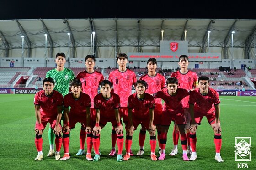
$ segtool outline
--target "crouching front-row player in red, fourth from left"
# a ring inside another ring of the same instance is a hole
[[[155,100],[152,95],[145,93],[147,82],[138,80],[135,83],[136,93],[133,93],[128,98],[128,116],[130,123],[127,128],[125,140],[126,154],[123,160],[130,159],[130,148],[132,146],[133,131],[136,130],[139,124],[143,124],[150,134],[151,160],[157,160],[155,155],[156,136],[154,121]]]

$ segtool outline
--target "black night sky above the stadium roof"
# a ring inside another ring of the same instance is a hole
[[[256,13],[248,1],[243,4],[229,0],[4,0],[0,3],[0,20],[39,18],[256,19]]]

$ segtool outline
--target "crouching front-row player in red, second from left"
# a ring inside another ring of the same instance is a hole
[[[92,133],[90,127],[90,107],[91,99],[88,94],[81,92],[82,82],[74,79],[70,83],[72,93],[64,96],[64,116],[65,122],[63,126],[63,148],[64,156],[60,160],[67,160],[69,156],[69,132],[75,128],[75,124],[80,122],[87,134],[87,154],[86,159],[92,160]],[[70,106],[70,111],[69,111]]]

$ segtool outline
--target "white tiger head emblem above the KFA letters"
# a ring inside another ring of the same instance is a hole
[[[251,145],[248,144],[244,139],[235,145],[235,153],[242,159],[251,153]]]

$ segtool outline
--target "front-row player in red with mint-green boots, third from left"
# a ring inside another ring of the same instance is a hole
[[[120,108],[120,97],[116,93],[111,93],[112,83],[108,80],[103,80],[101,82],[102,93],[97,94],[94,97],[94,108],[96,109],[96,122],[93,128],[93,148],[95,151],[95,156],[93,161],[98,161],[100,159],[100,132],[101,129],[111,122],[117,133],[117,161],[123,161],[122,151],[123,151],[123,126],[120,121],[120,114],[118,109]]]

